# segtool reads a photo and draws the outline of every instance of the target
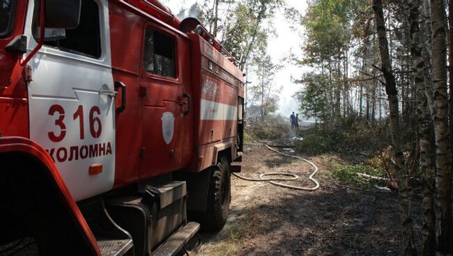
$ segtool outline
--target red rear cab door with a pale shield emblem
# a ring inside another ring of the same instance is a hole
[[[142,154],[140,176],[153,177],[182,168],[190,149],[190,122],[178,70],[178,38],[152,24],[144,27],[144,56],[141,68]]]

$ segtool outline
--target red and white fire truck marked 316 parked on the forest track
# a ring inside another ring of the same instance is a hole
[[[0,254],[176,255],[222,229],[235,63],[157,0],[0,0]]]

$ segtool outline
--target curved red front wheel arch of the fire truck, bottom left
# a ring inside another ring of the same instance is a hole
[[[17,164],[18,160],[20,160],[20,164]],[[4,162],[1,163],[2,161]],[[52,194],[55,194],[56,201],[61,202],[61,204],[56,207],[60,207],[59,211],[64,212],[66,215],[64,217],[68,218],[70,222],[69,225],[73,227],[74,230],[77,230],[75,231],[77,232],[75,235],[84,241],[86,250],[91,252],[91,255],[100,255],[100,250],[89,225],[79,211],[75,200],[70,195],[52,158],[43,147],[40,147],[40,145],[27,138],[0,138],[0,163],[1,166],[7,166],[6,168],[1,168],[0,172],[8,172],[7,175],[6,173],[3,173],[0,176],[9,176],[20,179],[20,175],[27,175],[27,172],[28,174],[33,172],[33,177],[40,177],[42,180],[45,180],[45,185],[40,182],[35,182],[35,184],[33,184],[33,186],[37,186],[40,190],[37,192],[47,191],[48,195],[48,192],[50,191]],[[14,168],[18,166],[20,167]],[[15,170],[8,170],[8,167],[14,168]],[[5,181],[6,180],[7,179],[5,178]]]

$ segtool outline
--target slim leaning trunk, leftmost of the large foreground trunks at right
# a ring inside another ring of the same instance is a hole
[[[401,212],[401,228],[404,241],[404,255],[417,255],[413,241],[413,221],[410,212],[410,186],[404,170],[404,155],[401,151],[401,131],[399,127],[399,105],[397,85],[390,64],[388,42],[385,33],[385,21],[382,0],[373,0],[376,30],[378,32],[379,51],[381,54],[381,71],[385,79],[385,92],[390,109],[390,126],[392,129],[392,145],[394,149],[394,167],[398,175],[399,211]]]

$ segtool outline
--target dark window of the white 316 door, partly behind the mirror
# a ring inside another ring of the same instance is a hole
[[[35,3],[39,1],[35,1]],[[34,10],[33,36],[39,38],[39,8]],[[90,58],[100,58],[99,7],[93,0],[82,0],[80,23],[75,29],[45,29],[45,45]]]

